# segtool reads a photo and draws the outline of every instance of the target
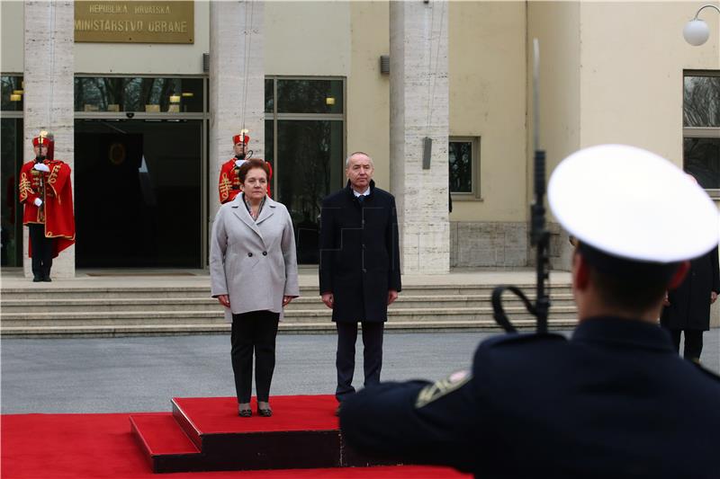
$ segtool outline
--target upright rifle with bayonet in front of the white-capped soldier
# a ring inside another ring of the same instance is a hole
[[[537,318],[537,333],[547,333],[547,315],[550,310],[550,297],[547,294],[550,279],[550,232],[545,227],[545,150],[540,149],[540,111],[539,111],[539,65],[540,46],[533,39],[533,144],[534,157],[534,193],[535,199],[530,207],[530,244],[536,247],[536,302],[533,305],[522,290],[516,286],[499,286],[492,290],[492,310],[495,322],[507,333],[517,333],[508,315],[502,307],[502,293],[506,290],[519,297],[527,311]],[[547,287],[546,287],[547,286]]]

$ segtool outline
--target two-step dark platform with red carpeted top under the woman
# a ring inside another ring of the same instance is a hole
[[[174,398],[173,412],[130,416],[155,473],[398,464],[343,443],[332,395],[274,396],[273,417],[238,416],[234,397]]]

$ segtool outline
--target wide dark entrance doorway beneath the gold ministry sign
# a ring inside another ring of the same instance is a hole
[[[202,120],[76,120],[78,268],[202,268]]]

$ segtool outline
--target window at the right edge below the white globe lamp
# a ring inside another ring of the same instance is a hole
[[[683,168],[720,198],[720,71],[686,71]]]

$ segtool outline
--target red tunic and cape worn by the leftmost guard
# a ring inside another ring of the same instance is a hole
[[[75,243],[75,217],[73,216],[73,188],[70,182],[70,167],[60,160],[45,160],[49,173],[33,169],[34,161],[23,164],[20,170],[18,190],[20,202],[24,205],[23,225],[40,223],[45,225],[45,236],[55,238],[53,257]],[[43,190],[44,184],[44,192]],[[42,205],[35,206],[40,198]],[[32,248],[28,243],[28,254]]]

